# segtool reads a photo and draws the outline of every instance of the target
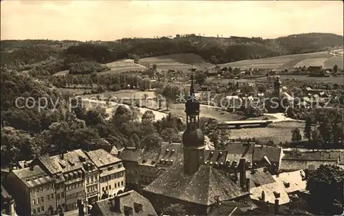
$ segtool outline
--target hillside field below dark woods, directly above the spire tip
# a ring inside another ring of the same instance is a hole
[[[197,67],[198,69],[205,69],[208,67],[212,67],[211,63],[206,63],[201,56],[197,56],[195,54],[170,54],[166,56],[155,56],[149,58],[142,58],[139,61],[140,65],[153,65],[156,64],[158,69],[190,69],[191,64],[193,67]]]

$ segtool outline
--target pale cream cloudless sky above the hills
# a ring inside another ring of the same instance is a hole
[[[343,1],[1,1],[1,40],[343,35]]]

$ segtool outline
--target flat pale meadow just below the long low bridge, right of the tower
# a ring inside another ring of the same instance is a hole
[[[303,122],[272,122],[268,127],[257,128],[241,128],[233,129],[230,131],[230,138],[256,138],[259,142],[268,142],[272,140],[275,144],[279,142],[291,142],[292,129],[299,128],[301,134],[305,123]]]

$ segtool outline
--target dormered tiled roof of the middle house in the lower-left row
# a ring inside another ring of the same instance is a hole
[[[77,149],[74,151],[69,151],[63,154],[63,158],[61,155],[54,155],[49,157],[47,155],[40,156],[39,160],[42,164],[47,168],[50,173],[65,173],[69,171],[74,171],[76,169],[83,168],[82,159],[85,159],[85,162],[91,163],[91,160],[81,151],[81,149]]]

